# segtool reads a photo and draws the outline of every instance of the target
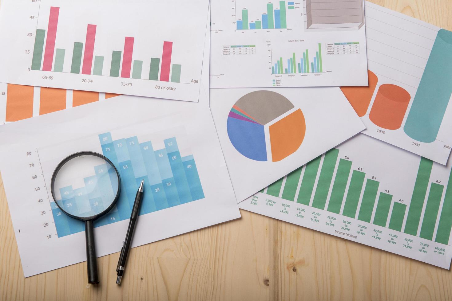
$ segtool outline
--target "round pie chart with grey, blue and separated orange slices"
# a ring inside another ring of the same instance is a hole
[[[301,109],[296,109],[281,94],[254,91],[232,106],[227,133],[231,144],[243,156],[255,161],[271,158],[272,162],[278,162],[300,148],[306,122]]]

